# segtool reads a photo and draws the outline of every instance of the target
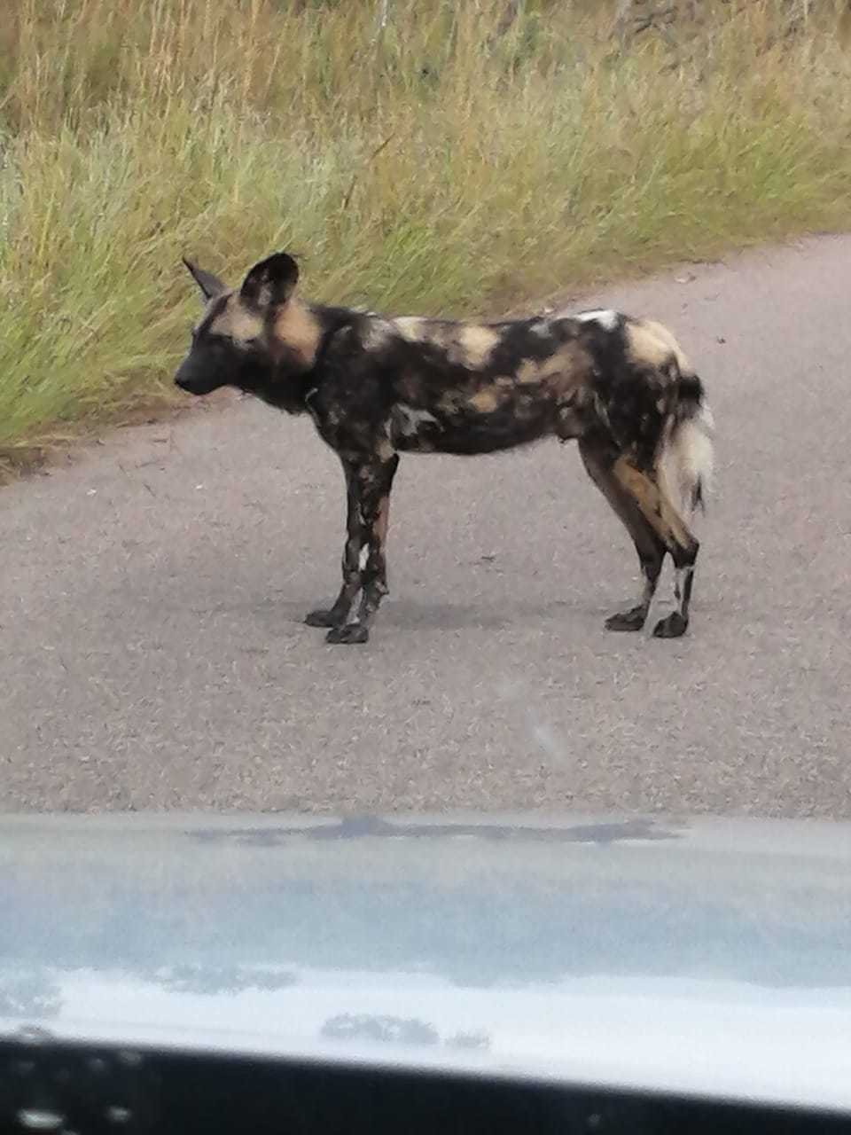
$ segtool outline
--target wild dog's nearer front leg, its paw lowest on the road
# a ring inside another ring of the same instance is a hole
[[[328,632],[329,642],[365,642],[376,612],[387,595],[387,523],[390,489],[399,459],[370,461],[354,471],[353,484],[360,506],[359,550],[361,603],[355,619]]]

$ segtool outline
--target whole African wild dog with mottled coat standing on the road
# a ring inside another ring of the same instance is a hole
[[[343,463],[343,588],[330,608],[306,617],[329,628],[329,642],[365,642],[387,594],[399,453],[491,453],[547,436],[579,442],[635,544],[640,600],[606,625],[643,627],[669,553],[676,609],[654,633],[685,631],[698,541],[684,514],[702,503],[711,419],[666,328],[614,311],[494,323],[385,318],[305,303],[284,252],[255,264],[236,291],[185,263],[207,308],[177,385],[199,395],[229,385],[288,413],[306,411]]]

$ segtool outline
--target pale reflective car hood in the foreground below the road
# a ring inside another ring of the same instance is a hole
[[[851,1111],[851,825],[0,818],[0,1034]]]

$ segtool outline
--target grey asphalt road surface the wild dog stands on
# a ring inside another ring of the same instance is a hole
[[[583,300],[667,322],[716,414],[676,641],[604,631],[637,564],[573,446],[403,459],[366,647],[301,623],[343,539],[307,420],[242,400],[3,489],[0,808],[851,816],[850,289],[820,237]]]

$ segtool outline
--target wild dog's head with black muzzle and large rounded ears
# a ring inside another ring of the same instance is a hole
[[[296,409],[289,386],[297,387],[313,367],[321,328],[294,294],[295,260],[276,252],[254,264],[236,291],[191,261],[184,263],[201,289],[204,313],[175,382],[189,394],[235,386]]]

